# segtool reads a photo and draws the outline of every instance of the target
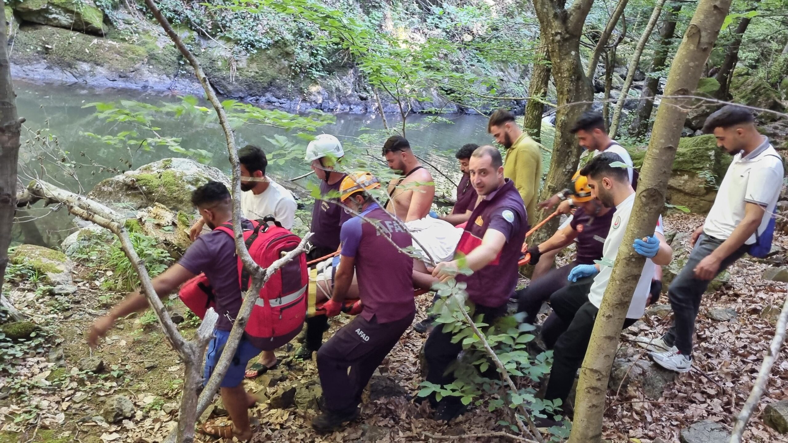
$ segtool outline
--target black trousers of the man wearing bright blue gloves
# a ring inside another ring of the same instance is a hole
[[[588,301],[591,283],[593,277],[579,280],[550,297],[550,305],[561,322],[560,325],[566,328],[553,348],[552,369],[545,400],[560,399],[562,404],[567,401],[574,385],[574,376],[585,358],[593,324],[599,312],[599,308]],[[625,319],[623,329],[636,321],[637,319]]]

